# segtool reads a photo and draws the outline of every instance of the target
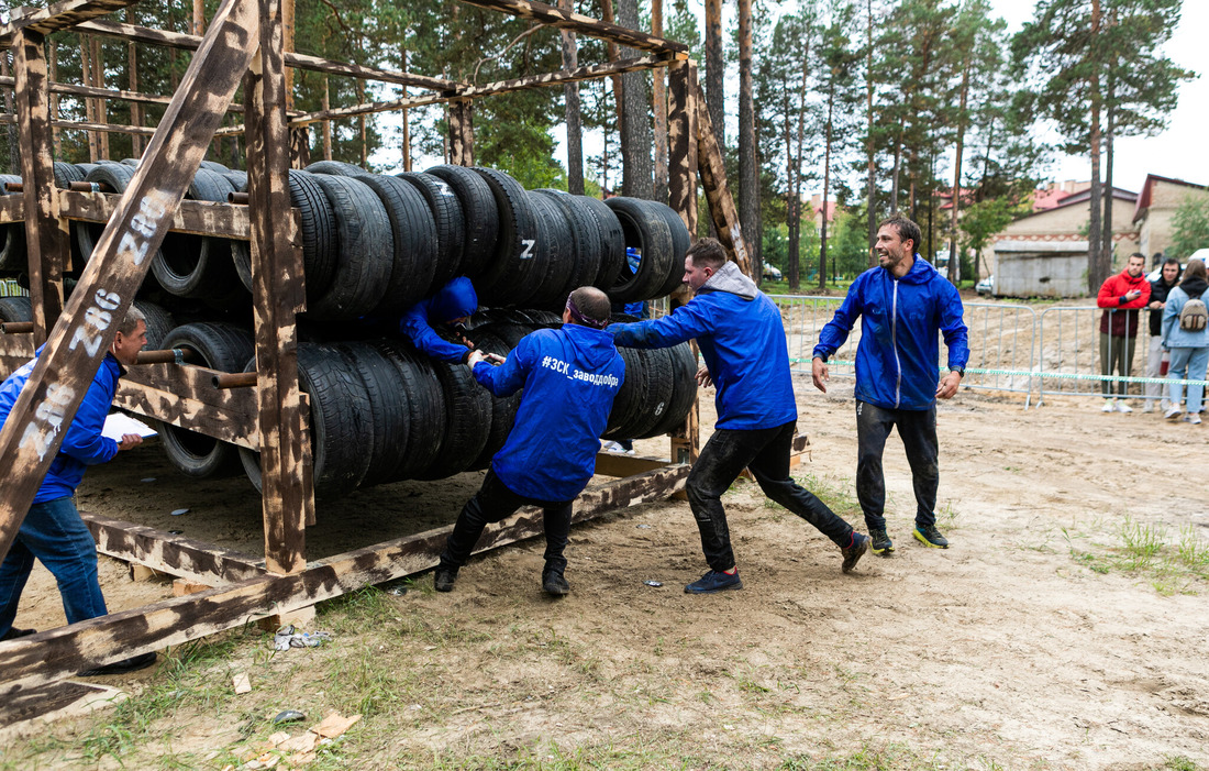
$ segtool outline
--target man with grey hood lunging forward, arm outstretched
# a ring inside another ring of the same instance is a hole
[[[798,514],[840,548],[849,573],[868,539],[789,477],[798,422],[781,311],[715,238],[701,238],[684,258],[684,283],[695,297],[670,316],[613,324],[620,346],[670,347],[696,339],[705,359],[698,381],[717,384],[718,422],[686,483],[710,571],[684,587],[690,594],[741,589],[722,494],[744,467],[770,499]]]

